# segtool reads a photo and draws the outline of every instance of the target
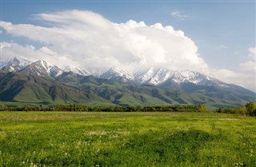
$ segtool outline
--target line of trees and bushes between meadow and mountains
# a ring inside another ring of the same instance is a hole
[[[147,106],[87,106],[87,105],[24,105],[10,107],[0,105],[0,111],[76,111],[76,112],[208,112],[205,105],[147,105]],[[251,101],[236,108],[215,109],[216,113],[237,113],[247,116],[256,116],[256,103]]]

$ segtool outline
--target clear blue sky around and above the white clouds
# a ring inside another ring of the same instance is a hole
[[[116,23],[132,19],[150,26],[160,22],[162,26],[182,30],[198,46],[200,57],[213,69],[241,72],[238,67],[251,61],[248,50],[255,47],[255,1],[2,0],[1,6],[1,20],[12,24],[45,26],[45,22],[34,19],[33,14],[74,9],[90,10]],[[27,38],[7,34],[6,30],[2,30],[2,41],[21,45],[28,42]],[[255,83],[255,78],[253,80]]]

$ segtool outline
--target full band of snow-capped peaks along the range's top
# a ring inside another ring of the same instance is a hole
[[[58,66],[51,65],[46,61],[29,62],[23,58],[10,58],[2,62],[2,70],[21,72],[29,75],[50,76],[57,78],[65,72],[73,72],[82,76],[94,75],[98,78],[106,78],[117,82],[135,82],[137,84],[151,84],[151,85],[170,85],[170,83],[177,83],[178,85],[186,82],[195,85],[218,85],[222,87],[230,87],[229,84],[220,82],[214,78],[207,77],[198,72],[184,70],[166,70],[159,67],[141,66],[141,64],[132,64],[128,71],[121,68],[113,67],[106,72],[99,73],[94,70],[87,70],[83,66],[66,66],[64,70]]]

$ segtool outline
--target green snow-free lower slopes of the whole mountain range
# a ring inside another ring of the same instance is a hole
[[[191,82],[182,83],[181,89],[170,89],[156,85],[130,85],[72,72],[54,79],[2,71],[0,79],[0,101],[88,105],[204,104],[212,107],[239,106],[247,101],[256,101],[255,94]]]

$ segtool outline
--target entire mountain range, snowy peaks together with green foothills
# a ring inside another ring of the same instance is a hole
[[[256,101],[256,93],[195,71],[157,67],[130,73],[113,67],[92,73],[49,62],[10,58],[2,62],[0,101],[87,105],[198,105],[212,108]]]

